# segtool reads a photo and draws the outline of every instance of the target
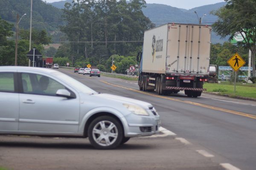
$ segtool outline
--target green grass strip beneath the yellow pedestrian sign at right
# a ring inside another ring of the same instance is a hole
[[[236,83],[236,93],[234,93],[234,85],[230,82],[206,83],[204,88],[207,92],[215,92],[216,94],[225,94],[230,97],[242,96],[256,99],[256,84],[243,84],[242,82]]]

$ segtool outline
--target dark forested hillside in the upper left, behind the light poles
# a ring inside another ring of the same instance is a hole
[[[20,28],[28,29],[30,26],[31,0],[0,0],[0,17],[11,23],[16,22],[17,14],[26,16],[20,21]],[[33,0],[32,25],[39,30],[55,31],[60,25],[61,9],[53,7],[42,0]]]

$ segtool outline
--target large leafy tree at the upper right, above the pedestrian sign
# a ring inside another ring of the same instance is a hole
[[[252,51],[253,77],[255,77],[256,54],[256,1],[255,0],[225,0],[227,5],[212,12],[218,16],[218,21],[212,25],[213,30],[222,38],[234,36],[239,32],[245,47]],[[246,35],[246,36],[244,36]]]

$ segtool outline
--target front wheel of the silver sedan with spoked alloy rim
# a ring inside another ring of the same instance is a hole
[[[88,138],[96,149],[114,149],[123,140],[122,125],[111,116],[94,119],[88,128]]]

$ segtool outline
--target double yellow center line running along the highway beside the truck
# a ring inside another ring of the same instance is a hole
[[[100,81],[105,83],[105,84],[112,85],[114,87],[124,88],[124,89],[127,89],[129,91],[134,91],[134,92],[141,93],[141,94],[146,94],[146,95],[149,95],[149,96],[154,96],[154,97],[158,97],[158,98],[162,98],[162,99],[168,99],[168,100],[172,100],[172,101],[176,101],[176,102],[183,102],[183,103],[187,103],[187,104],[191,104],[191,105],[197,105],[197,106],[201,106],[201,107],[204,107],[204,108],[210,108],[210,109],[213,109],[213,110],[216,110],[216,111],[223,111],[223,112],[227,112],[227,113],[232,113],[232,114],[236,114],[236,115],[256,119],[255,115],[251,115],[251,114],[247,114],[247,113],[242,113],[242,112],[238,112],[238,111],[231,111],[231,110],[224,109],[224,108],[217,108],[217,107],[214,107],[214,106],[204,105],[204,104],[196,103],[196,102],[184,101],[184,100],[180,100],[180,99],[174,99],[174,98],[166,97],[166,96],[159,96],[159,95],[156,95],[156,94],[150,94],[150,93],[135,90],[135,89],[132,89],[132,88],[126,88],[126,87],[123,87],[123,86],[120,86],[120,85],[114,85],[112,83],[105,82],[105,81],[102,81],[102,80],[100,80]]]

